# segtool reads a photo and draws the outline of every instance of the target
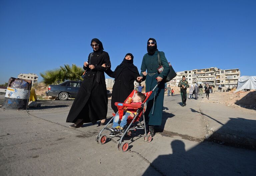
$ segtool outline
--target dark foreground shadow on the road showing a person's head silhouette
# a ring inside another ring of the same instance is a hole
[[[162,175],[254,175],[256,164],[252,162],[255,152],[245,157],[246,150],[234,153],[234,150],[203,142],[185,150],[181,140],[173,140],[167,155],[159,155],[149,167],[155,167]],[[143,176],[151,175],[148,168]]]

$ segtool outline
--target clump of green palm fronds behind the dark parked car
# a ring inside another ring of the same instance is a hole
[[[47,70],[43,73],[40,73],[40,75],[43,77],[42,82],[45,85],[50,85],[59,84],[66,80],[83,80],[83,78],[81,77],[83,71],[84,70],[82,67],[78,67],[75,64],[72,64],[72,67],[70,67],[68,64],[64,64],[64,67],[60,66],[60,68]]]

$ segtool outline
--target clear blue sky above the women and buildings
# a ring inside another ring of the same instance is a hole
[[[112,69],[131,52],[140,70],[155,38],[175,71],[213,66],[256,75],[255,9],[255,0],[1,0],[0,84],[19,73],[82,66],[92,38],[102,41]]]

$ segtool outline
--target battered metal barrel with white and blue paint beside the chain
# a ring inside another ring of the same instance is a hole
[[[3,108],[15,110],[26,109],[30,89],[31,80],[11,77],[7,85]]]

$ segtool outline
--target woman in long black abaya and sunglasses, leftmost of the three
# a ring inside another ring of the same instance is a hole
[[[98,39],[92,39],[91,46],[93,52],[89,54],[88,62],[84,62],[83,67],[87,73],[66,120],[74,123],[70,128],[79,128],[83,123],[89,122],[95,124],[98,120],[103,125],[106,120],[108,98],[104,71],[111,68],[111,63]],[[107,67],[101,66],[102,64]]]

